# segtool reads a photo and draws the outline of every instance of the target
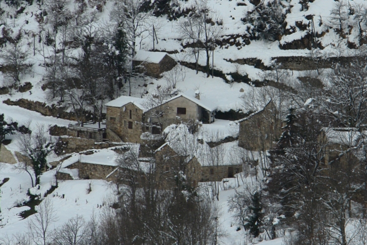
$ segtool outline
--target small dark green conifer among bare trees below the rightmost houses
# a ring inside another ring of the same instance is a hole
[[[255,191],[251,197],[251,206],[249,207],[250,214],[245,219],[247,224],[246,229],[249,229],[250,234],[257,237],[260,234],[260,227],[262,225],[262,218],[264,214],[262,213],[262,203],[261,203],[261,193]]]

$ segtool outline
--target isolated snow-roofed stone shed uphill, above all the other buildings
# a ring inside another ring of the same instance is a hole
[[[135,69],[155,78],[160,78],[162,72],[171,70],[175,65],[174,58],[165,52],[139,50],[133,58]]]

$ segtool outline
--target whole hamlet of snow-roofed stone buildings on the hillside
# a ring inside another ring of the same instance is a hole
[[[140,72],[155,78],[175,65],[164,52],[140,51],[134,59]],[[201,96],[200,90],[160,97],[121,96],[106,103],[102,124],[83,122],[67,129],[56,127],[59,154],[68,154],[61,161],[51,162],[57,169],[57,179],[114,181],[121,178],[119,173],[123,171],[119,170],[126,168],[137,176],[139,171],[145,172],[143,175],[154,172],[162,188],[169,188],[177,173],[185,174],[193,186],[226,181],[250,167],[266,166],[265,152],[274,146],[285,124],[271,100],[242,118],[237,114],[219,119],[218,102],[208,94]],[[345,129],[328,130],[325,137],[330,144],[325,163],[337,157],[334,149],[345,144],[345,134]],[[27,160],[4,146],[0,158],[12,164],[16,158]]]

